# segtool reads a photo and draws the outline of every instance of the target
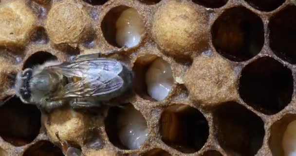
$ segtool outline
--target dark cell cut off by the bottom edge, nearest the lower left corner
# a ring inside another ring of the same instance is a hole
[[[22,156],[64,156],[64,154],[50,141],[40,140],[31,145]]]

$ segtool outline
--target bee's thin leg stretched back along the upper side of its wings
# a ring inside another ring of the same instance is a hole
[[[82,60],[88,60],[88,59],[97,59],[97,58],[101,58],[102,55],[110,56],[110,55],[113,55],[113,54],[116,54],[116,53],[119,53],[122,51],[126,51],[127,48],[128,48],[127,46],[123,46],[119,49],[111,50],[111,51],[104,53],[104,54],[99,52],[99,53],[93,53],[93,54],[79,55],[79,56],[74,57],[71,61],[75,62],[75,61],[82,61]]]

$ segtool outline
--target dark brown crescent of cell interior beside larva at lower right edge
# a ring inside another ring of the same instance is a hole
[[[270,128],[270,137],[268,141],[269,149],[273,156],[284,156],[282,139],[290,122],[296,120],[295,114],[287,114],[276,121]]]

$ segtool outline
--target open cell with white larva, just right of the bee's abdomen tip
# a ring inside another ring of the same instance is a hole
[[[174,78],[170,64],[156,55],[139,57],[132,70],[135,73],[134,89],[144,99],[160,101],[169,94]]]

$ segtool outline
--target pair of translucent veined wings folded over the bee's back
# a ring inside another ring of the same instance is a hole
[[[53,99],[105,95],[120,89],[124,83],[123,79],[118,76],[122,71],[122,65],[112,59],[65,63],[52,68],[58,68],[67,77],[81,78],[75,83],[68,83],[62,93]]]

